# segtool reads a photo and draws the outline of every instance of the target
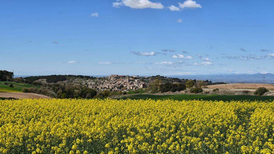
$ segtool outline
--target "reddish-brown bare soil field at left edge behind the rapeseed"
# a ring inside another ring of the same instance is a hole
[[[51,99],[48,96],[45,95],[40,95],[40,94],[33,94],[33,93],[23,93],[23,92],[0,92],[0,97],[2,98],[31,98],[31,99],[39,99],[39,98],[47,98],[47,99]]]

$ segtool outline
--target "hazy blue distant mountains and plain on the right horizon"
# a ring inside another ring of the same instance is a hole
[[[196,79],[196,80],[211,80],[212,82],[227,82],[227,83],[263,83],[263,76],[265,76],[265,83],[274,84],[274,74],[208,74],[208,75],[178,75],[167,76],[180,79]]]

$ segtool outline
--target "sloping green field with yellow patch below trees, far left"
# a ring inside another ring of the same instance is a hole
[[[24,84],[24,83],[16,83],[16,82],[7,82],[8,84],[5,84],[5,81],[0,82],[0,91],[3,92],[21,92],[23,88],[30,88],[30,87],[37,87],[41,88],[39,86],[31,85],[31,84]],[[14,88],[9,87],[9,85],[12,84]]]

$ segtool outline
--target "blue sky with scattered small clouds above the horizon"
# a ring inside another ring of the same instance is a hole
[[[274,73],[274,1],[0,1],[15,75]]]

